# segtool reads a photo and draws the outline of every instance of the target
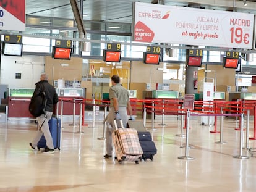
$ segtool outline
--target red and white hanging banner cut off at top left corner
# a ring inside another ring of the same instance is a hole
[[[0,30],[25,31],[25,0],[0,1]]]

